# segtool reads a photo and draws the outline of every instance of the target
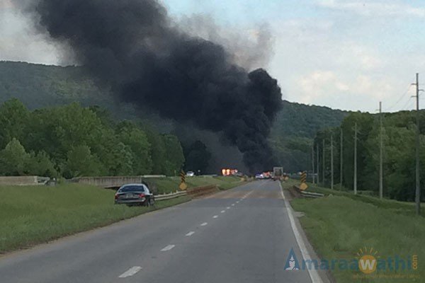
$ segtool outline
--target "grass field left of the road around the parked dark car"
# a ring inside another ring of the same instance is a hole
[[[190,200],[183,196],[154,207],[113,204],[113,190],[78,184],[0,187],[0,253],[87,231]]]

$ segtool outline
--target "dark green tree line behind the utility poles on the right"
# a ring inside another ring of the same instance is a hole
[[[419,152],[420,160],[423,161],[425,160],[425,112],[421,111],[419,117]],[[318,164],[319,183],[330,186],[331,137],[333,137],[335,187],[353,190],[355,125],[358,129],[357,187],[358,190],[368,190],[378,195],[380,164],[380,119],[378,115],[352,112],[344,118],[340,127],[331,127],[317,132],[312,146],[314,151],[310,150],[314,155],[314,171],[317,173]],[[343,141],[342,183],[340,180],[341,134]],[[382,113],[383,195],[385,197],[403,201],[414,200],[415,134],[415,112]],[[317,154],[317,150],[319,154]],[[309,166],[309,168],[311,167],[312,165]],[[322,173],[324,173],[324,180]],[[425,166],[421,166],[420,175],[421,184],[424,184]]]

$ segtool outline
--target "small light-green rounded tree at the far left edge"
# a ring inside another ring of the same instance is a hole
[[[25,175],[25,167],[30,155],[26,153],[18,139],[13,138],[6,147],[0,151],[1,175]]]

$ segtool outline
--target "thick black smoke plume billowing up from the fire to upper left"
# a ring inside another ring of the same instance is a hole
[[[24,6],[40,30],[66,42],[79,64],[120,99],[220,132],[244,154],[251,172],[271,166],[267,137],[281,93],[265,70],[248,73],[222,46],[181,32],[155,0],[35,0]]]

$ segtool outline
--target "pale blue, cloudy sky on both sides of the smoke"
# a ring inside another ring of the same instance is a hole
[[[416,72],[425,88],[425,0],[161,2],[189,33],[224,42],[247,69],[267,69],[291,102],[377,112],[382,101],[393,112],[414,108]],[[0,0],[0,60],[74,64],[61,50]]]

